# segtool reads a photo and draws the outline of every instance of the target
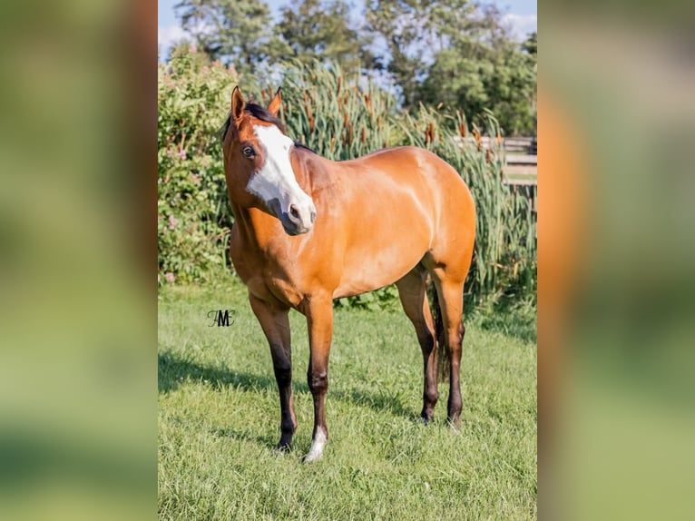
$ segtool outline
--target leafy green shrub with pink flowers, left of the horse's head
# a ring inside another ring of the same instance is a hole
[[[208,280],[225,268],[231,217],[218,130],[236,82],[188,47],[158,70],[159,280]]]

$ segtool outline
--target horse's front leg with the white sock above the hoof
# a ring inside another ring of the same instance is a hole
[[[323,454],[328,439],[324,402],[328,391],[328,353],[333,335],[333,300],[331,297],[308,300],[308,388],[314,398],[314,435],[305,461],[315,461]]]

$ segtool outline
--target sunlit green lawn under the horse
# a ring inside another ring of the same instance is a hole
[[[210,310],[235,310],[229,328]],[[310,446],[306,323],[292,313],[294,449],[276,454],[269,349],[239,282],[164,288],[159,311],[161,519],[534,519],[533,317],[466,320],[461,433],[421,425],[421,355],[402,312],[336,310],[329,440]],[[504,332],[506,331],[506,332]]]

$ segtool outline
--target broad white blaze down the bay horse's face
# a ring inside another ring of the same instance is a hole
[[[311,198],[299,187],[292,171],[289,162],[292,140],[275,125],[254,125],[253,129],[259,143],[265,149],[266,161],[259,172],[251,175],[247,191],[258,196],[266,204],[277,199],[280,211],[288,215],[291,215],[290,205],[294,206],[299,215],[290,216],[289,219],[307,231],[310,230],[311,213],[316,209]]]

